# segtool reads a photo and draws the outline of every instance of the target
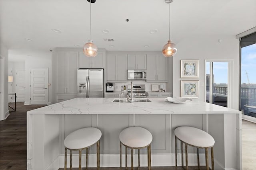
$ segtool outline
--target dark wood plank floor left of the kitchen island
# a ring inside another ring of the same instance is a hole
[[[14,108],[13,103],[11,106]],[[16,111],[11,111],[6,120],[0,121],[0,170],[27,169],[26,112],[43,106],[24,106],[24,102],[17,102]]]

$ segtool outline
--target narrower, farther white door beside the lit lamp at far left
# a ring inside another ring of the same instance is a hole
[[[16,71],[16,102],[25,102],[25,70]]]

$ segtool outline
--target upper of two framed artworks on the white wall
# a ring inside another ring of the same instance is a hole
[[[180,60],[180,78],[199,78],[199,60]]]

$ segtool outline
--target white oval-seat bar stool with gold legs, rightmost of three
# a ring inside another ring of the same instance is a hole
[[[208,149],[211,149],[211,157],[212,157],[212,170],[214,170],[214,158],[213,158],[213,145],[215,143],[213,137],[202,131],[201,129],[197,129],[195,127],[181,126],[177,127],[174,130],[175,134],[175,166],[177,169],[177,139],[181,142],[181,161],[183,167],[183,143],[185,143],[185,152],[186,152],[186,170],[188,170],[188,145],[197,148],[197,162],[198,162],[198,170],[199,170],[199,148],[205,149],[205,162],[206,169],[209,170],[208,165]]]

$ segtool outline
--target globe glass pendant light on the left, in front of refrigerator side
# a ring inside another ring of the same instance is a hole
[[[86,43],[84,45],[84,55],[86,55],[87,57],[95,57],[98,53],[98,48],[97,46],[92,43],[92,39],[91,39],[91,20],[92,20],[92,0],[90,0],[90,40],[89,43]]]

